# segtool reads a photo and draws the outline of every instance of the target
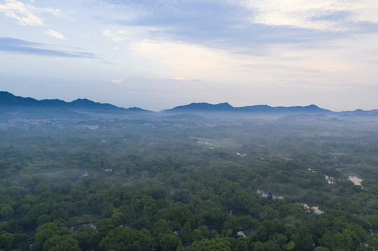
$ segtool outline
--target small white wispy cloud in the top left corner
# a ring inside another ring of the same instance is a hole
[[[0,12],[4,13],[6,17],[17,20],[22,25],[41,26],[43,25],[43,20],[39,17],[39,14],[52,13],[53,15],[59,15],[60,10],[50,7],[37,8],[21,1],[5,0],[5,3],[0,4]]]

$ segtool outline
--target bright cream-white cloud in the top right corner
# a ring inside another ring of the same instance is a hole
[[[347,13],[350,22],[378,22],[378,1],[371,0],[245,0],[242,5],[254,12],[252,22],[268,25],[287,25],[318,30],[344,30],[344,20],[337,20],[340,12]],[[335,18],[324,18],[332,17]]]

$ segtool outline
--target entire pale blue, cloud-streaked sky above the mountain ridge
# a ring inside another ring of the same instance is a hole
[[[0,0],[0,91],[378,109],[378,1]]]

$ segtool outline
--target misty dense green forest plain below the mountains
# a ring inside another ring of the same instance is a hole
[[[378,250],[377,123],[37,129],[0,131],[0,250]]]

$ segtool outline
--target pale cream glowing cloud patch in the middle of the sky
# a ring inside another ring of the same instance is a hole
[[[130,49],[139,58],[147,60],[145,65],[153,69],[151,73],[179,76],[177,80],[204,79],[215,82],[231,80],[237,83],[245,79],[246,75],[240,72],[240,66],[251,64],[256,59],[247,59],[231,52],[210,49],[201,45],[177,42],[143,41],[132,43]],[[259,63],[262,62],[259,61]]]

